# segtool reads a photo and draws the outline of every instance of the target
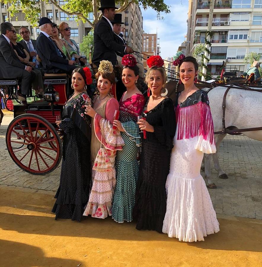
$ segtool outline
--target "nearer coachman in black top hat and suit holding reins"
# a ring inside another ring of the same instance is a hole
[[[116,52],[133,53],[133,49],[123,44],[118,44],[114,39],[114,31],[111,21],[114,20],[117,7],[114,0],[101,0],[102,18],[95,25],[94,30],[94,54],[92,61],[99,64],[101,60],[111,61],[116,64]],[[119,62],[118,62],[119,63]]]

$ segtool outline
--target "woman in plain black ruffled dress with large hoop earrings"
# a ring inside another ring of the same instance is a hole
[[[157,64],[152,66],[152,59]],[[142,141],[139,178],[135,196],[133,215],[137,218],[136,229],[155,230],[162,233],[166,212],[165,183],[169,173],[170,154],[175,135],[175,112],[172,100],[167,98],[164,89],[167,77],[159,56],[148,60],[151,67],[146,74],[146,82],[152,95],[138,122],[139,128],[146,131]],[[148,96],[150,91],[148,88]],[[164,89],[165,93],[161,93]]]

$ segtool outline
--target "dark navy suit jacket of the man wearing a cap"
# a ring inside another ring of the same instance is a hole
[[[55,43],[41,32],[36,39],[36,50],[45,69],[68,70],[68,60],[58,54]]]

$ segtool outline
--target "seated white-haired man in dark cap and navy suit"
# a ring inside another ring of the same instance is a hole
[[[36,50],[41,58],[42,65],[47,69],[48,73],[65,71],[71,74],[76,68],[74,66],[75,61],[64,59],[50,37],[52,28],[55,26],[56,24],[49,18],[43,17],[39,20],[40,34],[36,39]]]

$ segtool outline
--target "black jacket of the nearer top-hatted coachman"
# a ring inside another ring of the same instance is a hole
[[[114,35],[111,25],[102,17],[95,25],[93,62],[108,60],[113,63],[116,62],[116,52],[124,53],[124,44],[116,43]]]

